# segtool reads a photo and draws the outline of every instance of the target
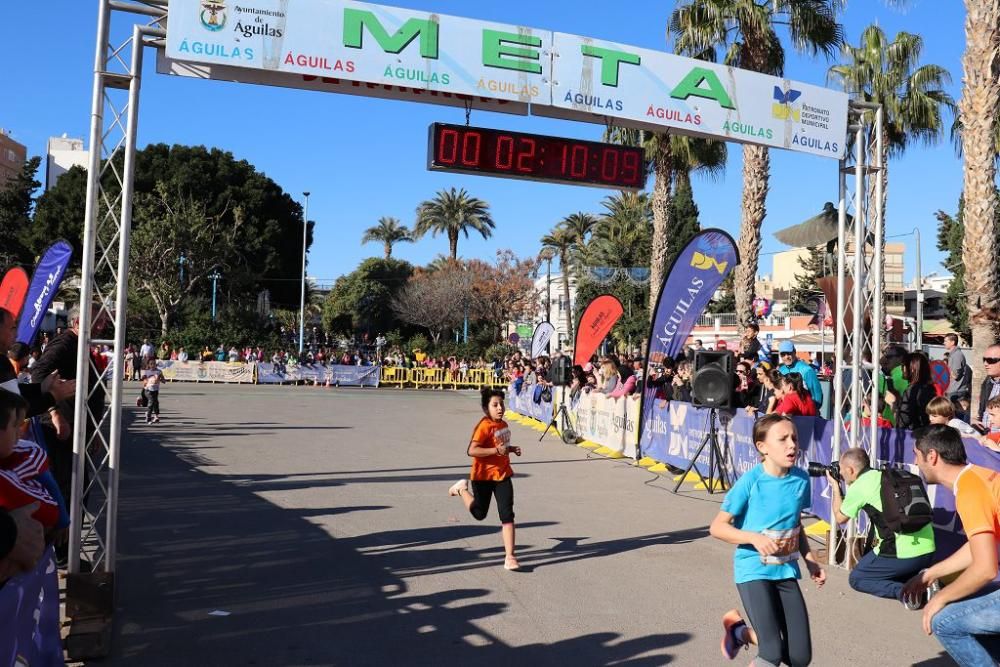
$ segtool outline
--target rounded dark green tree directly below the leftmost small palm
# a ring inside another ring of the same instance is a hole
[[[334,283],[323,304],[323,328],[336,334],[405,328],[392,311],[393,298],[413,275],[413,266],[398,259],[370,258]]]

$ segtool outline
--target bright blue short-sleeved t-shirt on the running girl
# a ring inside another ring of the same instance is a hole
[[[758,463],[740,477],[722,501],[722,511],[733,515],[733,525],[740,530],[765,533],[783,548],[761,560],[753,545],[741,544],[733,555],[737,584],[758,579],[800,579],[798,532],[800,513],[811,502],[809,475],[792,468],[784,477],[773,477]]]

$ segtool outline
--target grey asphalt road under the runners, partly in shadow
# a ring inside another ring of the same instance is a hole
[[[107,665],[721,665],[719,497],[513,424],[522,572],[469,516],[471,393],[169,384],[128,408]],[[803,590],[814,665],[950,665],[920,614]],[[752,655],[743,654],[738,664]]]

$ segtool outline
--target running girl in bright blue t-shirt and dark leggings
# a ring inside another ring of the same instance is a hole
[[[732,660],[740,648],[754,644],[754,665],[800,667],[812,661],[812,640],[797,582],[799,556],[817,586],[826,582],[826,572],[802,530],[801,512],[810,502],[809,476],[795,466],[799,445],[790,418],[760,418],[753,440],[763,460],[729,490],[709,528],[716,539],[736,545],[736,590],[752,626],[747,627],[736,609],[726,613],[722,653]]]

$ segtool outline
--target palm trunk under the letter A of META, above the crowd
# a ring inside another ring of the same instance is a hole
[[[767,191],[771,176],[771,158],[767,148],[747,144],[743,147],[743,210],[740,221],[740,264],[735,270],[733,291],[736,319],[741,325],[754,320],[753,299],[756,292],[757,264],[760,261],[760,228],[767,215]]]

